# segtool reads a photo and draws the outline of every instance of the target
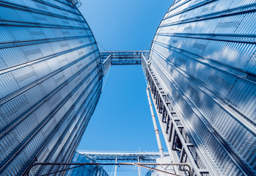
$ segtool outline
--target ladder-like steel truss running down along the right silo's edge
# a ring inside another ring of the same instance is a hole
[[[192,175],[209,175],[207,162],[202,161],[202,154],[197,152],[191,135],[150,67],[150,61],[143,55],[142,67],[170,155],[175,162],[191,164]]]

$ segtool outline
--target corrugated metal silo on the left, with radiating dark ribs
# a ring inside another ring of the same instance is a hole
[[[0,23],[0,175],[70,162],[102,84],[87,22],[70,1],[6,0]]]

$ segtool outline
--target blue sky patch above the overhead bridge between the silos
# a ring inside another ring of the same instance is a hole
[[[83,4],[79,10],[89,23],[97,42],[106,50],[144,50],[172,4],[172,0],[81,2]]]

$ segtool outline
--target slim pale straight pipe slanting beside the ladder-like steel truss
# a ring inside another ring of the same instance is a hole
[[[159,136],[158,127],[156,125],[156,117],[155,117],[155,114],[154,114],[154,111],[153,111],[153,106],[152,106],[152,103],[151,103],[151,100],[150,100],[150,92],[149,92],[148,86],[147,86],[147,100],[148,100],[148,103],[150,105],[150,112],[151,112],[151,116],[152,116],[152,120],[153,120],[153,125],[154,125],[154,128],[155,128],[158,150],[159,150],[161,158],[164,158],[164,150],[163,150],[163,147],[162,147],[162,144],[161,144],[161,139],[160,139],[160,136]]]

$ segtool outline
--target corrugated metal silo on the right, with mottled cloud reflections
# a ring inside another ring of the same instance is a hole
[[[255,10],[255,1],[175,1],[150,50],[153,71],[215,175],[256,174]]]

